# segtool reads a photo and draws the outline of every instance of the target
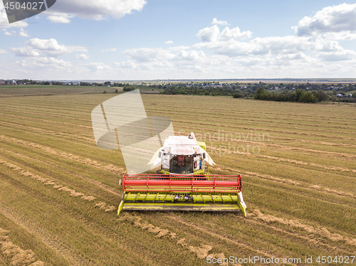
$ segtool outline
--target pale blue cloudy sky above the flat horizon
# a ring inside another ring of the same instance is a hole
[[[11,23],[0,78],[355,78],[354,1],[57,0]]]

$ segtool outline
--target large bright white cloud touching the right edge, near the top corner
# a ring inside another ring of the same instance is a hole
[[[356,4],[325,7],[311,18],[305,16],[292,28],[298,36],[356,31]]]

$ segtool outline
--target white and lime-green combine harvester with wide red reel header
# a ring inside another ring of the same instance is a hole
[[[214,161],[204,142],[169,136],[149,164],[161,164],[157,174],[125,174],[122,177],[122,210],[130,211],[242,211],[241,175],[206,174],[205,163]]]

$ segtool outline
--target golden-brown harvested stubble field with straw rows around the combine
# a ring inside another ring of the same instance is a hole
[[[147,115],[206,142],[211,174],[242,175],[248,216],[118,217],[125,164],[120,151],[96,147],[90,120],[114,95],[5,94],[0,265],[253,265],[239,262],[249,256],[320,265],[319,256],[356,255],[353,106],[143,94]]]

